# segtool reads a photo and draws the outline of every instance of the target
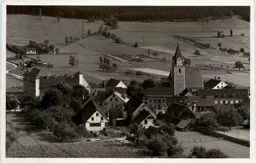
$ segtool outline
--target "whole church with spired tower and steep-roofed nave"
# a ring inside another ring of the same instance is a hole
[[[196,92],[198,89],[204,88],[203,78],[199,70],[185,67],[179,43],[173,56],[172,70],[169,73],[168,82],[172,87],[173,96],[180,96],[184,90]]]

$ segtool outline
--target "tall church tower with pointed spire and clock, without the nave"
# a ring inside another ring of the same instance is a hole
[[[172,88],[173,95],[179,94],[186,88],[185,86],[185,64],[184,58],[181,55],[179,43],[177,45],[172,63]]]

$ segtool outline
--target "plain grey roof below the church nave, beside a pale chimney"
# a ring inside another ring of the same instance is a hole
[[[214,96],[187,96],[188,105],[193,105],[193,102],[196,101],[198,106],[213,106],[215,104]]]

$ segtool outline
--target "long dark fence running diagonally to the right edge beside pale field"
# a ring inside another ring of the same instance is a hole
[[[217,137],[217,138],[223,138],[224,137],[224,140],[227,140],[229,142],[233,142],[233,143],[237,143],[237,144],[240,144],[240,145],[243,145],[243,146],[250,147],[250,141],[230,137],[228,135],[224,135],[222,133],[218,133],[218,132],[215,132],[215,131],[206,130],[206,129],[203,129],[203,128],[198,127],[198,126],[195,127],[195,129],[198,132],[204,133],[204,134],[209,135],[211,137]]]

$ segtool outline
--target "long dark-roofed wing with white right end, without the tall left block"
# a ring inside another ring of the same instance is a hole
[[[39,77],[40,99],[42,98],[42,96],[45,95],[46,91],[49,88],[59,83],[67,83],[70,86],[77,86],[77,85],[84,86],[90,94],[89,84],[87,83],[86,79],[84,79],[83,74],[80,71],[78,71],[75,74],[69,74],[69,75],[40,76]]]

